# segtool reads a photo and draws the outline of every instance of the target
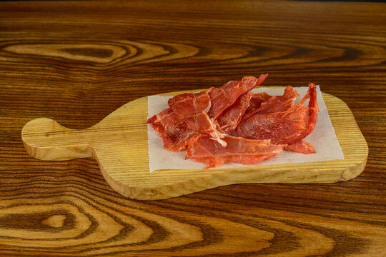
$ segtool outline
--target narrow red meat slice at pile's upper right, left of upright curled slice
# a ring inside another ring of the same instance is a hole
[[[263,101],[260,104],[259,108],[247,111],[242,119],[248,119],[254,114],[272,114],[279,111],[287,111],[287,109],[295,106],[297,96],[299,96],[297,91],[292,86],[287,86],[282,96],[269,97],[267,101]]]

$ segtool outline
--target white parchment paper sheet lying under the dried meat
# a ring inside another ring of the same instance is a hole
[[[295,88],[300,96],[297,97],[297,101],[300,101],[307,93],[308,86]],[[259,88],[254,89],[252,92],[267,92],[272,96],[280,96],[284,93],[284,88],[270,89]],[[152,117],[155,114],[159,114],[164,109],[167,109],[167,101],[171,96],[149,96],[148,97],[148,112]],[[308,100],[305,102],[308,104]],[[270,158],[267,161],[262,161],[257,164],[243,165],[239,163],[224,163],[219,168],[232,168],[241,166],[262,166],[273,164],[285,164],[285,163],[305,163],[314,161],[330,161],[330,160],[342,160],[345,159],[342,153],[337,136],[335,135],[334,127],[331,124],[330,116],[328,116],[325,101],[323,101],[320,86],[317,86],[317,104],[319,105],[320,112],[317,116],[317,124],[314,131],[305,138],[305,141],[312,144],[315,147],[316,153],[302,154],[289,151],[282,151],[277,156]],[[194,162],[191,159],[185,160],[186,151],[172,152],[164,149],[162,138],[158,136],[156,131],[153,131],[152,126],[148,124],[147,133],[149,136],[149,169],[150,172],[162,169],[201,169],[207,166],[206,163]]]

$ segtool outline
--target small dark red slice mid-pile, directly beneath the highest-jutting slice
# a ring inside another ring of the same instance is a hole
[[[224,133],[229,133],[237,127],[249,106],[251,96],[251,92],[243,94],[234,102],[234,104],[232,104],[232,106],[229,106],[219,115],[217,122]]]

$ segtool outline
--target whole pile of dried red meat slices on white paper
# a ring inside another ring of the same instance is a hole
[[[226,161],[259,163],[281,151],[315,153],[303,140],[317,121],[315,84],[298,103],[287,86],[282,96],[250,92],[267,78],[244,76],[224,86],[169,99],[169,108],[147,120],[169,151],[187,150],[186,158],[214,168]],[[310,99],[308,107],[303,103]]]

